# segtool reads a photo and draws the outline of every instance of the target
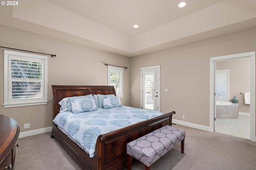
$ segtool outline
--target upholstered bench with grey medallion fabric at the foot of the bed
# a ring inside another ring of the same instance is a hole
[[[127,168],[132,169],[132,157],[145,164],[145,170],[161,156],[181,142],[181,152],[184,153],[186,132],[180,128],[166,125],[126,144]]]

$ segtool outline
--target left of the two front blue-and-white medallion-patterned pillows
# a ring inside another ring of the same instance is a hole
[[[95,99],[92,96],[88,99],[70,99],[71,109],[74,114],[82,112],[98,111]]]

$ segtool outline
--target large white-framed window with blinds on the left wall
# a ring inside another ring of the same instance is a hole
[[[47,102],[47,57],[4,50],[4,107]]]

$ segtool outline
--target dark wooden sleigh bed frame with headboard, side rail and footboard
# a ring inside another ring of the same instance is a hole
[[[58,104],[65,97],[90,94],[114,94],[113,86],[52,85],[53,118],[60,112]],[[53,123],[51,138],[56,140],[86,170],[117,170],[127,165],[126,144],[165,125],[172,125],[175,111],[98,136],[94,157],[66,136]]]

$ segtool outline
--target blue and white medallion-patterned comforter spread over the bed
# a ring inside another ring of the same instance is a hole
[[[106,134],[162,114],[157,111],[122,106],[111,109],[99,108],[98,111],[78,114],[61,112],[56,115],[53,122],[92,158],[100,134]]]

